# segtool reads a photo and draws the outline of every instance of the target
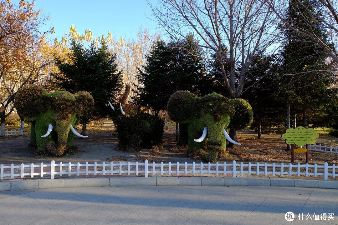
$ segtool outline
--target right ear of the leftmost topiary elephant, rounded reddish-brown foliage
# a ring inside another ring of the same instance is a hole
[[[76,105],[76,118],[80,123],[88,122],[94,113],[94,99],[87,91],[79,91],[74,94]]]

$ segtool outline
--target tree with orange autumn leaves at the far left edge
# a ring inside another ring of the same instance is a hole
[[[5,117],[14,109],[16,92],[42,76],[42,69],[52,61],[51,58],[43,58],[41,51],[46,46],[45,37],[54,29],[44,33],[39,31],[50,18],[41,10],[35,11],[34,4],[34,1],[23,0],[18,5],[10,1],[0,2],[1,136],[5,133]]]

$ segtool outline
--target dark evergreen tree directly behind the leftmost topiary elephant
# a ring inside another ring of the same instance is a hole
[[[107,101],[114,102],[122,89],[122,72],[115,58],[105,40],[99,47],[92,43],[88,48],[73,40],[67,58],[55,58],[59,69],[53,74],[55,84],[71,93],[88,91],[95,103],[94,118],[103,118],[110,113]]]

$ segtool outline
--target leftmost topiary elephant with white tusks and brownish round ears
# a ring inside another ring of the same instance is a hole
[[[86,91],[74,95],[68,91],[47,93],[42,87],[29,85],[16,94],[15,107],[31,121],[30,144],[37,146],[35,153],[62,156],[74,147],[74,134],[87,137],[73,126],[90,119],[94,100]]]

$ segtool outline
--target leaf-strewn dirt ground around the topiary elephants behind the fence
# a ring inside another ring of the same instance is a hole
[[[107,124],[111,126],[111,124]],[[78,153],[65,155],[62,157],[41,157],[34,156],[34,149],[28,147],[29,135],[16,137],[0,138],[0,164],[21,164],[21,163],[47,163],[52,160],[63,163],[93,163],[93,162],[143,162],[147,159],[150,162],[172,162],[172,163],[192,163],[200,162],[198,158],[191,159],[185,156],[186,148],[176,146],[175,127],[169,126],[169,130],[164,132],[163,144],[161,147],[153,149],[141,149],[139,152],[127,153],[117,150],[118,140],[114,134],[114,128],[109,129],[89,129],[88,138],[78,138],[74,144],[78,146]],[[291,152],[284,150],[286,144],[281,138],[282,133],[262,135],[258,140],[258,135],[250,130],[238,132],[238,142],[242,145],[236,148],[228,148],[229,156],[227,159],[219,159],[218,162],[231,162],[233,160],[243,162],[291,162]],[[317,144],[328,146],[338,145],[338,140],[329,135],[320,135]],[[295,163],[305,163],[305,153],[295,153]],[[319,153],[310,151],[309,163],[320,164],[324,162],[338,164],[338,155],[331,153]]]

